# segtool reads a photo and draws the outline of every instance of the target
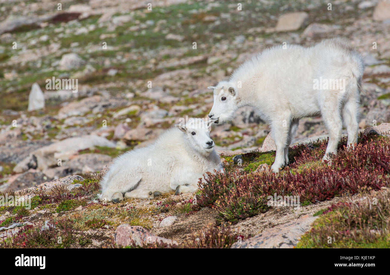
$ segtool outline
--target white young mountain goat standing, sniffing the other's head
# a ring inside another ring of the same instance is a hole
[[[289,163],[288,149],[299,119],[319,116],[330,132],[323,160],[337,151],[342,121],[348,146],[356,143],[363,60],[346,41],[327,39],[313,47],[272,47],[243,63],[229,81],[214,90],[209,113],[215,123],[232,118],[242,106],[252,106],[268,121],[275,140],[277,173]]]

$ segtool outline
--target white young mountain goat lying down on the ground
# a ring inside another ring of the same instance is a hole
[[[162,133],[154,144],[117,157],[100,182],[100,200],[122,201],[123,194],[151,199],[171,190],[195,192],[204,173],[223,172],[209,135],[213,121],[190,118]]]

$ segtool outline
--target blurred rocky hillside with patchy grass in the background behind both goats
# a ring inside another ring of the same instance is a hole
[[[2,3],[0,190],[98,172],[180,117],[206,116],[213,102],[207,86],[283,43],[351,40],[366,63],[360,127],[390,121],[390,12],[383,1],[339,1],[328,10],[315,0],[243,7],[175,0],[157,1],[152,11],[135,2]],[[53,77],[77,79],[77,93],[49,89]],[[248,152],[268,132],[247,108],[211,135],[218,149]],[[320,118],[307,118],[293,142],[326,135]]]

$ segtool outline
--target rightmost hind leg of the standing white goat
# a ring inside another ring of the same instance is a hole
[[[351,98],[344,105],[343,109],[343,121],[344,125],[347,128],[348,134],[348,147],[354,147],[354,144],[357,141],[357,135],[359,130],[358,124],[358,114],[359,114],[359,100],[357,98]]]

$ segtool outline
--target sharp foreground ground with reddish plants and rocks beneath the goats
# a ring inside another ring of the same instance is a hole
[[[0,207],[0,247],[390,247],[389,135],[389,124],[367,128],[356,148],[341,147],[332,164],[321,163],[325,142],[295,146],[292,164],[280,175],[269,171],[275,151],[220,151],[225,175],[203,180],[196,193],[172,191],[153,200],[99,202],[98,181],[105,170],[7,190],[0,196],[15,196],[17,202]],[[345,145],[344,139],[340,146]],[[323,171],[322,183],[311,180]],[[300,184],[302,177],[312,183]],[[280,194],[289,200],[278,204]],[[269,196],[271,201],[275,196],[275,204],[269,204]],[[23,201],[30,202],[28,209]],[[332,222],[326,224],[328,216],[348,228],[337,231],[340,241],[333,245],[321,237],[321,230],[336,232]],[[311,227],[317,219],[318,233]]]

